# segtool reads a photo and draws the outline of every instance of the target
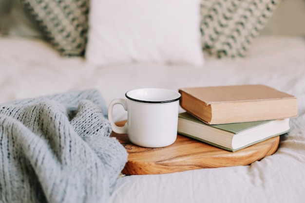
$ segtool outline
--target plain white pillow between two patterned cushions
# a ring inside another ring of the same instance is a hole
[[[86,59],[202,66],[199,0],[91,0]]]

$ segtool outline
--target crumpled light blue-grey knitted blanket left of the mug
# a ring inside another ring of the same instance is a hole
[[[0,202],[108,202],[127,152],[96,90],[0,105]]]

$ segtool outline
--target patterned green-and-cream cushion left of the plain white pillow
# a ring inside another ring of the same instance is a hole
[[[89,0],[20,0],[61,55],[83,55]]]

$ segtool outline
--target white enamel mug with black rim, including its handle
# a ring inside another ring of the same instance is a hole
[[[108,119],[114,132],[128,134],[138,146],[160,148],[177,138],[181,94],[161,88],[142,88],[126,92],[126,99],[114,99],[108,107]],[[127,123],[118,127],[113,121],[113,107],[120,104],[127,111]]]

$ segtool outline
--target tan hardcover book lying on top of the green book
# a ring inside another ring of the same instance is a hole
[[[297,98],[265,85],[179,89],[180,106],[213,124],[273,120],[297,116]]]

